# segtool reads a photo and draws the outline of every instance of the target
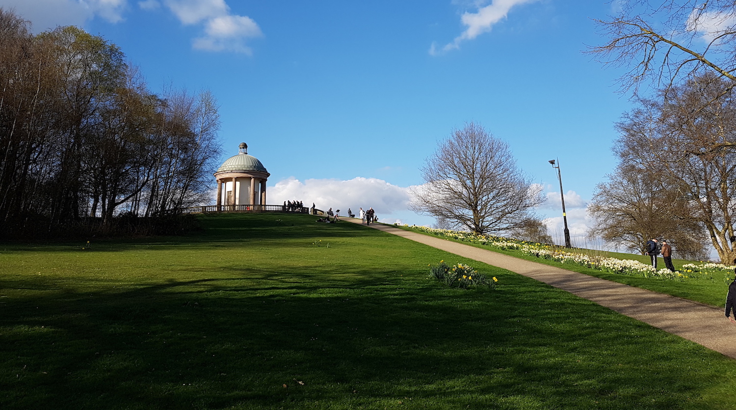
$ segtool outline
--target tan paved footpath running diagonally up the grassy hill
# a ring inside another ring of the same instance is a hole
[[[361,223],[360,219],[344,218],[344,220]],[[390,225],[373,224],[370,227],[548,283],[620,314],[736,358],[736,325],[726,319],[723,309],[554,266],[524,261]],[[723,300],[725,299],[726,294],[723,294]]]

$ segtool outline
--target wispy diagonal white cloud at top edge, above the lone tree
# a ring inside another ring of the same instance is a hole
[[[452,43],[447,43],[443,47],[437,46],[436,43],[432,43],[429,54],[438,55],[442,52],[447,52],[452,49],[459,49],[460,43],[464,40],[473,40],[478,35],[484,32],[489,32],[493,28],[494,24],[506,18],[512,7],[531,3],[537,0],[493,0],[491,4],[483,6],[484,1],[473,1],[473,6],[478,9],[475,13],[465,12],[461,15],[461,22],[466,29],[458,37],[453,40]]]

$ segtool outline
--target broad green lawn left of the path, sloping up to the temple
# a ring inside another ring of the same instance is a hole
[[[1,244],[0,407],[736,404],[736,361],[512,272],[347,222],[202,223],[184,238]],[[500,286],[442,287],[427,279],[441,259]]]

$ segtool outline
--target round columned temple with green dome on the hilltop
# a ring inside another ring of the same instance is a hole
[[[248,144],[227,158],[215,172],[217,211],[265,211],[266,180],[271,175],[258,158],[248,155]]]

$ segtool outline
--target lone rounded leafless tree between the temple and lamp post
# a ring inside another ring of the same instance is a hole
[[[475,233],[508,231],[543,201],[541,188],[517,168],[508,144],[472,122],[440,144],[422,177],[412,208]]]

